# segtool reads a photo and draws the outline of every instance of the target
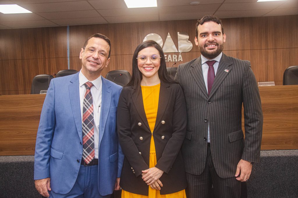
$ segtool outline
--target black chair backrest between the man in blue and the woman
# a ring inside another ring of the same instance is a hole
[[[126,70],[113,70],[109,71],[107,75],[105,75],[105,78],[124,87],[128,84],[131,75]]]

